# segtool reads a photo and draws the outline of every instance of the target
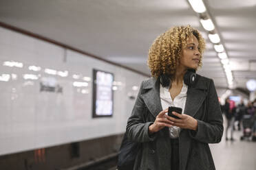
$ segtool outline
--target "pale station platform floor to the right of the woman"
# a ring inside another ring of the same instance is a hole
[[[225,119],[224,127],[226,127]],[[242,136],[242,130],[236,130],[234,131],[235,141],[226,141],[223,136],[220,143],[210,145],[216,170],[256,169],[256,142],[240,141],[240,136]]]

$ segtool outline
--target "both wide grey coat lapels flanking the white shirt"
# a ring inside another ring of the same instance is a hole
[[[160,100],[160,80],[159,78],[151,77],[143,84],[143,89],[147,91],[142,93],[142,99],[144,100],[147,108],[153,114],[154,117],[162,111],[162,104]],[[206,97],[207,86],[204,82],[204,78],[197,75],[197,82],[194,86],[189,86],[186,96],[185,114],[189,114],[191,117],[198,111],[202,102]]]

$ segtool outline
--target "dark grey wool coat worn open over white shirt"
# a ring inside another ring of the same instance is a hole
[[[140,85],[136,103],[127,122],[128,138],[142,143],[134,170],[171,169],[168,127],[153,136],[148,133],[149,125],[162,110],[160,81],[151,77]],[[220,143],[223,119],[213,80],[197,75],[195,85],[188,88],[184,114],[198,120],[198,130],[180,131],[180,170],[215,169],[209,143]]]

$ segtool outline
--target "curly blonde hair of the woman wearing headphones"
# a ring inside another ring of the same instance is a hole
[[[202,53],[205,49],[205,41],[200,32],[190,25],[186,27],[172,27],[154,40],[149,49],[148,66],[153,77],[161,74],[173,75],[180,62],[182,48],[186,47],[186,41],[194,35],[198,39],[200,52],[199,66],[202,66]]]

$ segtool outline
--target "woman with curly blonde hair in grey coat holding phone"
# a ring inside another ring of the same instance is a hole
[[[142,82],[127,122],[128,138],[142,143],[134,169],[215,169],[208,143],[221,141],[223,120],[213,80],[196,75],[194,85],[184,84],[186,71],[202,66],[204,47],[189,25],[167,30],[151,45],[152,77]],[[169,106],[182,108],[173,112],[180,119],[167,115]]]

